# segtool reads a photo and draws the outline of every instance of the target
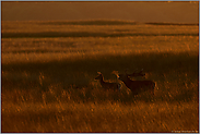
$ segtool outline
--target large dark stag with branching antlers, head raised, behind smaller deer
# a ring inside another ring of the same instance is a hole
[[[138,95],[142,92],[149,90],[152,95],[154,95],[154,87],[155,83],[153,81],[132,81],[129,76],[144,76],[145,74],[140,71],[139,73],[136,73],[136,71],[132,74],[116,74],[118,80],[122,81],[125,85],[132,92],[133,95]]]

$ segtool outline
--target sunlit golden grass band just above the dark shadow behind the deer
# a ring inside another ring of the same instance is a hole
[[[48,62],[96,56],[198,53],[198,36],[2,39],[2,63]]]

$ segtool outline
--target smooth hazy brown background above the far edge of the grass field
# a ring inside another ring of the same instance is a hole
[[[198,23],[198,2],[1,2],[2,21]]]

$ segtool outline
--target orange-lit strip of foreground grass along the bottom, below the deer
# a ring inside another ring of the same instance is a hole
[[[7,103],[2,132],[195,132],[197,117],[188,102]]]

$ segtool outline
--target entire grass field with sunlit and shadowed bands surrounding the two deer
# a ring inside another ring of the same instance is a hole
[[[2,22],[2,132],[199,132],[199,26]],[[155,95],[94,77],[143,69]]]

